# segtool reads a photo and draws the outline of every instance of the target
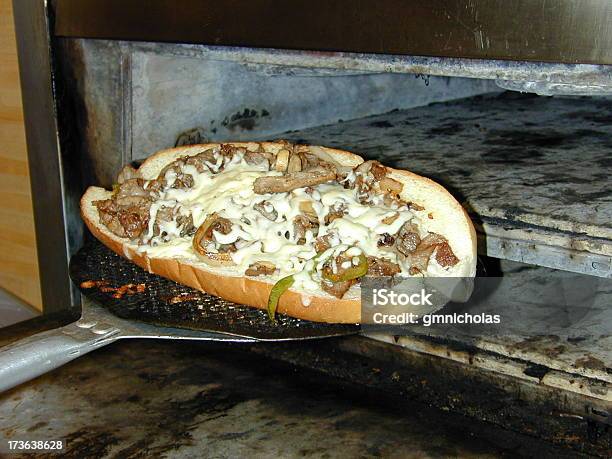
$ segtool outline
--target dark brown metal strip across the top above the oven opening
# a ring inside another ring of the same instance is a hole
[[[67,37],[612,63],[607,0],[57,0]]]

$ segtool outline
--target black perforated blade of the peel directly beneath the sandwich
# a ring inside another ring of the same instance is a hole
[[[164,327],[274,340],[323,338],[359,331],[356,325],[315,323],[280,314],[273,323],[265,311],[237,305],[150,274],[98,241],[92,241],[72,257],[70,276],[79,286],[91,280],[107,281],[114,288],[144,284],[143,292],[122,298],[114,298],[115,292],[104,292],[98,287],[81,288],[81,291],[118,317]]]

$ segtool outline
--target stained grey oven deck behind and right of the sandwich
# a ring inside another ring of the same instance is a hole
[[[481,253],[612,276],[612,101],[504,93],[283,135],[431,177]]]

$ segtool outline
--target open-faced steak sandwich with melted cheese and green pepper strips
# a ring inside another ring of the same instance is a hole
[[[88,188],[81,213],[149,272],[272,318],[358,323],[363,276],[475,275],[474,228],[443,187],[319,146],[163,150]]]

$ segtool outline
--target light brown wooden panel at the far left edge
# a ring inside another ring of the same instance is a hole
[[[0,287],[42,308],[11,0],[0,0]]]

